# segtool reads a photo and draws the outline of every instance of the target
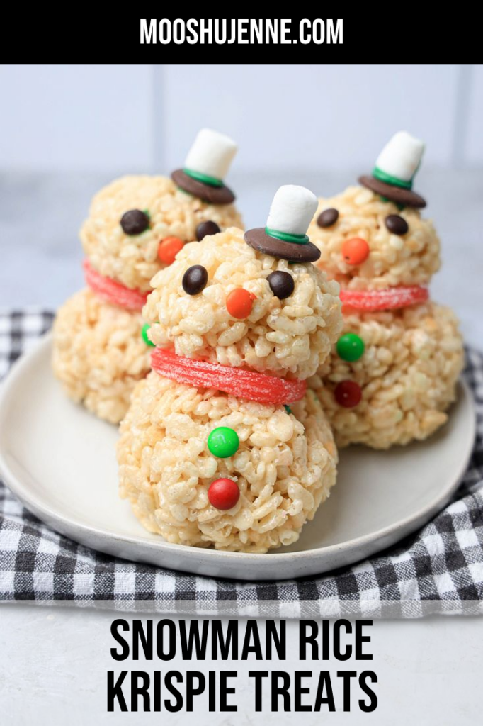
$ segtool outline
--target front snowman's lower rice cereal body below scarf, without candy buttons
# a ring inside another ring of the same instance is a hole
[[[210,454],[207,438],[217,426],[238,433],[234,456]],[[168,542],[239,552],[292,544],[335,481],[337,449],[311,392],[289,414],[151,372],[136,386],[120,431],[120,494]],[[207,495],[223,477],[241,494],[228,511]]]

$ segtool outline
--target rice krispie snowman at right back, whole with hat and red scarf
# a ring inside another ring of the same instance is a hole
[[[362,186],[319,200],[310,225],[318,264],[341,285],[344,330],[310,381],[339,446],[426,439],[455,398],[461,335],[453,312],[429,299],[439,239],[412,189],[423,152],[395,134]]]

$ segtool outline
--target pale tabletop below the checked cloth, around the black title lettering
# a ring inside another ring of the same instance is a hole
[[[117,613],[127,619],[132,616]],[[107,713],[107,671],[117,677],[123,670],[208,671],[235,670],[237,713],[210,713],[206,693],[197,697],[197,726],[231,726],[277,724],[288,726],[298,714],[278,711],[270,714],[269,706],[255,712],[253,684],[249,670],[312,671],[306,685],[315,700],[319,671],[329,670],[337,711],[328,714],[304,713],[305,725],[321,723],[371,724],[374,726],[474,726],[481,719],[481,679],[483,664],[483,618],[428,618],[417,621],[375,621],[370,645],[372,661],[299,661],[298,622],[287,627],[286,661],[117,662],[110,648],[117,643],[110,634],[116,615],[107,611],[77,608],[41,608],[32,605],[3,605],[0,608],[0,709],[1,723],[7,726],[39,724],[41,726],[84,726],[91,724],[162,724],[170,726],[193,723],[194,714]],[[136,618],[141,616],[137,615]],[[141,617],[144,621],[144,616]],[[260,621],[263,639],[263,622]],[[240,633],[244,624],[240,623]],[[342,711],[342,693],[337,685],[337,671],[372,670],[378,677],[374,685],[378,706],[363,714],[352,691],[350,713]],[[129,693],[124,690],[124,693]],[[266,689],[264,689],[266,693]],[[168,694],[166,694],[168,696]],[[268,702],[269,703],[269,702]]]

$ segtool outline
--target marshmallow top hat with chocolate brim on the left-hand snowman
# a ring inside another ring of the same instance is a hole
[[[183,191],[211,204],[229,204],[235,195],[223,179],[228,174],[237,151],[236,143],[225,134],[212,129],[198,132],[182,169],[171,179]]]

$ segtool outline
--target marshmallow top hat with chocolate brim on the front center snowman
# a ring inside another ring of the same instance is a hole
[[[305,187],[280,187],[273,197],[266,227],[249,229],[244,240],[255,250],[273,257],[314,262],[321,253],[306,232],[317,205],[317,197]]]

